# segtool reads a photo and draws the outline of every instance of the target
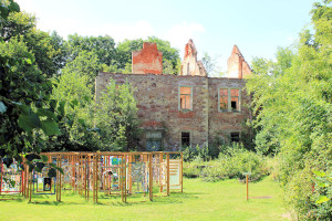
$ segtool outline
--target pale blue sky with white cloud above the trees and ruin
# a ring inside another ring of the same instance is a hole
[[[116,42],[155,35],[179,49],[189,39],[226,70],[237,44],[245,59],[273,59],[310,24],[312,0],[17,0],[38,28],[69,34],[111,35]]]

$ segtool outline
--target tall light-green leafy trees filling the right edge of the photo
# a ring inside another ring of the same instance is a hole
[[[304,30],[295,50],[279,49],[277,62],[257,59],[247,83],[252,93],[258,150],[279,152],[279,179],[286,202],[298,218],[328,220],[331,191],[312,189],[313,171],[332,168],[332,7],[315,3],[314,34]]]

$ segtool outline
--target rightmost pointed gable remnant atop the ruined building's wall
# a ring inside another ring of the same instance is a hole
[[[251,74],[251,69],[249,64],[246,62],[243,55],[241,54],[237,45],[234,45],[227,65],[228,65],[228,77],[242,78]]]

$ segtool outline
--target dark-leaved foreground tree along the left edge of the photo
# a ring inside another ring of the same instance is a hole
[[[0,27],[7,27],[12,15],[19,13],[19,7],[11,10],[12,3],[0,3]],[[27,43],[15,33],[6,28],[0,39],[0,161],[9,167],[14,159],[24,168],[23,154],[33,152],[25,156],[32,171],[35,166],[32,160],[41,158],[35,154],[44,148],[49,137],[60,134],[58,122],[63,117],[64,104],[50,99],[51,82],[41,72]]]

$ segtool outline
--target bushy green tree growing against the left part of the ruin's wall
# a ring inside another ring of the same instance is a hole
[[[111,81],[96,104],[96,127],[101,129],[98,149],[133,150],[139,136],[136,101],[129,84]]]

